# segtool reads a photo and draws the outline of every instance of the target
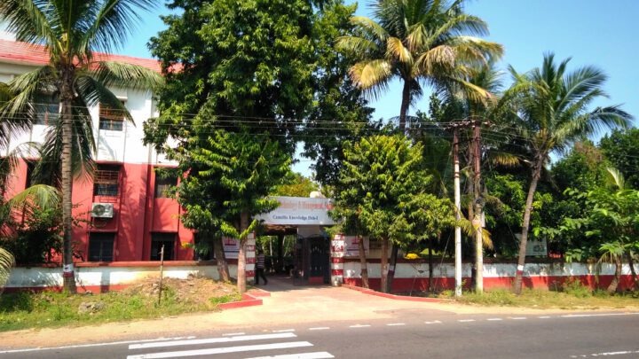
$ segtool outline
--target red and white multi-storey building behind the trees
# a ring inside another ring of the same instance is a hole
[[[96,57],[161,71],[154,59],[110,54]],[[43,47],[16,42],[0,28],[0,82],[10,82],[48,60]],[[134,121],[114,117],[99,105],[90,108],[98,168],[93,180],[79,179],[74,183],[74,216],[83,220],[73,233],[76,250],[83,254],[83,261],[151,261],[158,259],[159,248],[164,245],[165,260],[193,260],[193,250],[185,246],[193,243],[193,232],[179,221],[181,208],[177,201],[163,193],[175,182],[154,174],[154,168],[171,163],[142,141],[144,121],[157,115],[153,94],[146,90],[111,90]],[[48,112],[40,113],[33,128],[13,137],[9,148],[0,149],[0,155],[20,144],[42,141],[58,113],[57,103],[48,107]],[[11,195],[25,189],[29,176],[30,168],[22,162],[6,193]],[[94,207],[99,208],[92,212]]]

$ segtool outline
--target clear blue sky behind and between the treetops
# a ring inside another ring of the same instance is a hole
[[[359,2],[358,15],[369,15],[367,4]],[[597,105],[623,104],[628,113],[639,117],[639,1],[474,0],[466,10],[488,23],[491,34],[487,39],[504,45],[504,68],[510,64],[519,72],[530,70],[540,66],[547,51],[555,52],[556,59],[572,57],[572,68],[598,66],[609,76],[604,89],[610,99]],[[160,13],[168,11],[162,7],[144,16],[123,54],[151,56],[146,43],[163,28]],[[382,98],[371,101],[375,118],[397,116],[400,93],[396,82]],[[427,99],[428,95],[424,96],[411,112],[427,110]],[[308,165],[300,162],[296,170],[308,174]]]

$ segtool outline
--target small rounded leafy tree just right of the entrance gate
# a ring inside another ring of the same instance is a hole
[[[388,292],[389,244],[412,238],[413,210],[430,181],[423,170],[422,145],[405,137],[362,138],[344,149],[345,160],[335,191],[335,207],[361,227],[363,234],[382,240],[382,291]]]

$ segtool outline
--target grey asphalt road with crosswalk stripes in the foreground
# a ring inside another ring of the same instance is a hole
[[[0,358],[639,358],[639,313],[424,317],[402,310],[384,320],[236,329],[0,350]]]

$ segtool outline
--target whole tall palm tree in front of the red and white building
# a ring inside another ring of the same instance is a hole
[[[89,119],[88,107],[102,104],[120,111],[132,121],[130,113],[109,88],[152,89],[162,82],[159,74],[141,66],[100,59],[94,51],[110,52],[122,45],[133,24],[140,20],[138,9],[149,9],[153,0],[4,0],[0,20],[15,33],[18,41],[43,44],[50,62],[22,74],[9,83],[14,97],[0,109],[0,116],[17,113],[43,102],[44,96],[57,96],[61,103],[59,152],[64,229],[64,287],[75,293],[75,274],[71,250],[71,192],[75,123]],[[76,132],[77,134],[77,132]]]

